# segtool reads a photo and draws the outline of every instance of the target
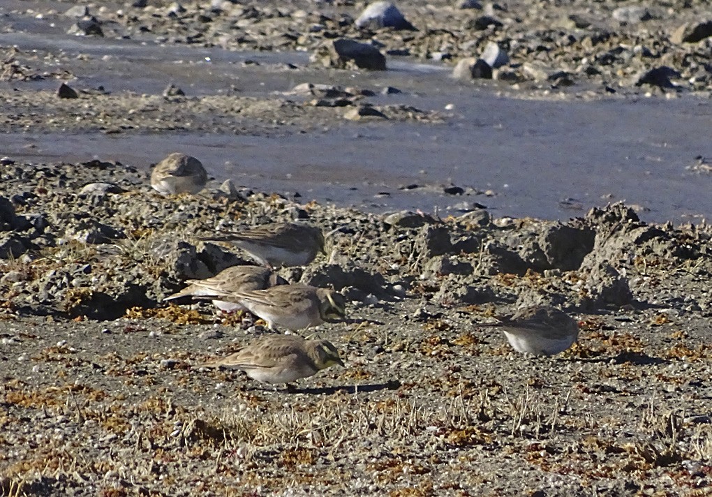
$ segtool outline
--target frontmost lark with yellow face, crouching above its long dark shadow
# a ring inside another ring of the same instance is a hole
[[[305,340],[295,335],[266,335],[234,354],[200,366],[243,370],[258,382],[290,383],[335,364],[344,365],[331,342]]]

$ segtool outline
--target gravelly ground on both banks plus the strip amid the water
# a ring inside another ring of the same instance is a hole
[[[89,8],[108,39],[229,50],[314,52],[345,36],[375,39],[387,57],[454,64],[496,41],[511,58],[497,84],[527,98],[708,92],[710,38],[673,41],[683,23],[704,19],[704,2],[650,4],[625,23],[615,9],[637,2],[511,2],[491,7],[502,25],[484,29],[480,9],[399,3],[418,31],[357,31],[365,4],[348,1],[147,4]],[[23,22],[41,16],[66,32],[74,5],[10,1],[2,29],[31,31]],[[190,123],[264,132],[342,119],[337,105],[282,97],[83,89],[78,100],[57,98],[73,63],[49,50],[2,50],[4,130],[172,133]],[[680,77],[637,85],[661,66]],[[48,87],[24,86],[37,80]],[[360,109],[363,96],[336,98]],[[442,119],[377,110],[423,125]],[[194,367],[267,333],[261,321],[161,303],[188,278],[249,263],[200,236],[276,219],[338,229],[328,256],[281,275],[333,287],[348,303],[345,322],[314,331],[338,347],[345,368],[300,380],[293,393]],[[706,224],[646,224],[623,204],[565,223],[492,219],[484,209],[377,215],[214,185],[160,197],[134,164],[90,157],[1,159],[0,489],[708,496],[711,238]],[[520,355],[500,330],[478,326],[545,304],[580,322],[577,344],[554,357]]]

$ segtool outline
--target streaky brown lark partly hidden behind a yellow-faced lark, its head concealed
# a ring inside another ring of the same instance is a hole
[[[177,300],[194,297],[199,300],[218,297],[223,293],[263,290],[276,285],[286,285],[287,281],[276,273],[261,266],[232,266],[204,280],[187,280],[188,286],[163,300]],[[212,299],[213,305],[226,313],[244,310],[244,305],[219,298]]]

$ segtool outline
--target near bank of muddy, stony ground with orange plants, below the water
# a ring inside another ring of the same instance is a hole
[[[4,493],[706,492],[709,226],[622,204],[378,216],[227,186],[161,197],[117,162],[4,161]],[[199,236],[278,219],[338,229],[281,276],[348,303],[316,331],[345,369],[296,394],[192,369],[265,333],[254,318],[160,303],[250,263]],[[575,315],[579,342],[537,360],[478,328],[531,304]]]

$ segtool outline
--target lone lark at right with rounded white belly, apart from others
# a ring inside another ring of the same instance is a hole
[[[502,328],[514,350],[533,355],[558,354],[578,338],[576,320],[556,308],[538,305],[518,310],[511,318],[486,326]]]

